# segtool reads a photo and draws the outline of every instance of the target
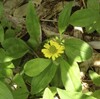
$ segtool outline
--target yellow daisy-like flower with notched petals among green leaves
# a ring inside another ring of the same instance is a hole
[[[61,54],[64,53],[65,47],[58,42],[54,40],[50,40],[49,43],[46,43],[44,45],[44,49],[42,49],[42,53],[44,54],[45,57],[47,58],[52,58],[52,60],[55,60]]]

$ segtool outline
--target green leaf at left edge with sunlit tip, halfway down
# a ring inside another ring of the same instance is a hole
[[[4,49],[0,48],[0,63],[10,62],[12,58],[7,55]]]

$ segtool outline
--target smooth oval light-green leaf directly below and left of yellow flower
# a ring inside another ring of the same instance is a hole
[[[49,64],[50,59],[36,58],[28,61],[24,66],[24,72],[26,75],[34,77],[40,74]]]

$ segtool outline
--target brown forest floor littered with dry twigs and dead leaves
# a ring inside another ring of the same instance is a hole
[[[73,0],[33,0],[37,15],[40,19],[43,39],[57,35],[58,15],[63,9],[64,4],[69,1]],[[72,11],[76,11],[85,6],[84,0],[74,1],[75,6],[72,8]],[[28,39],[25,27],[27,4],[28,0],[4,0],[5,16],[13,24],[13,29],[20,28],[20,32],[16,32],[16,36],[24,40]],[[93,48],[93,57],[79,64],[83,90],[100,89],[100,87],[95,86],[88,77],[89,70],[96,71],[100,74],[100,33],[96,31],[87,33],[84,28],[69,25],[64,36],[82,39]]]

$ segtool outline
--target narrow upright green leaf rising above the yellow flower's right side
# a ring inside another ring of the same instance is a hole
[[[62,34],[67,28],[67,26],[69,25],[69,18],[71,14],[72,5],[73,5],[73,2],[67,3],[59,15],[58,29],[59,29],[60,34]]]

